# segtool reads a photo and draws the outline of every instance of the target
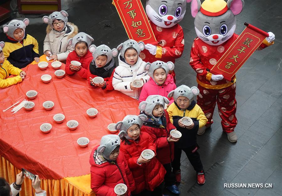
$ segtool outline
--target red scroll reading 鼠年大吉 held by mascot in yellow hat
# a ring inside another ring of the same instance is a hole
[[[231,78],[247,61],[253,52],[263,42],[268,33],[250,25],[234,41],[230,48],[224,53],[219,61],[208,70],[212,74],[222,74],[224,79],[231,81]]]

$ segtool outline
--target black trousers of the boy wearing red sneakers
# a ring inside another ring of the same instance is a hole
[[[174,160],[171,164],[173,171],[180,170],[180,158],[182,151],[185,152],[187,158],[189,159],[191,165],[194,167],[196,172],[200,172],[203,169],[203,164],[200,159],[200,154],[198,151],[192,153],[191,147],[189,148],[174,148]]]

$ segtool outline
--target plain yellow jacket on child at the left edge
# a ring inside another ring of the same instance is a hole
[[[9,61],[5,60],[0,68],[0,88],[7,88],[22,82],[22,78],[19,76],[20,72],[22,72],[21,69],[14,67]],[[15,77],[9,77],[9,75],[15,75]]]

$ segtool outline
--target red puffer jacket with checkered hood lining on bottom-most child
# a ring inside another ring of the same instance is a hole
[[[116,196],[114,193],[115,185],[124,183],[127,185],[126,196],[130,196],[131,191],[135,189],[135,182],[123,153],[120,152],[116,163],[106,162],[97,165],[93,158],[97,148],[98,146],[92,150],[89,159],[92,190],[97,196]]]

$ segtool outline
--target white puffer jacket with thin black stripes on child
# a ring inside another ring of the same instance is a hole
[[[144,71],[146,62],[138,56],[136,64],[129,65],[120,60],[119,55],[119,66],[115,68],[113,77],[113,87],[115,90],[120,91],[132,98],[139,99],[142,88],[138,90],[131,90],[130,83],[135,79],[143,79],[144,83],[149,81],[147,71]]]

